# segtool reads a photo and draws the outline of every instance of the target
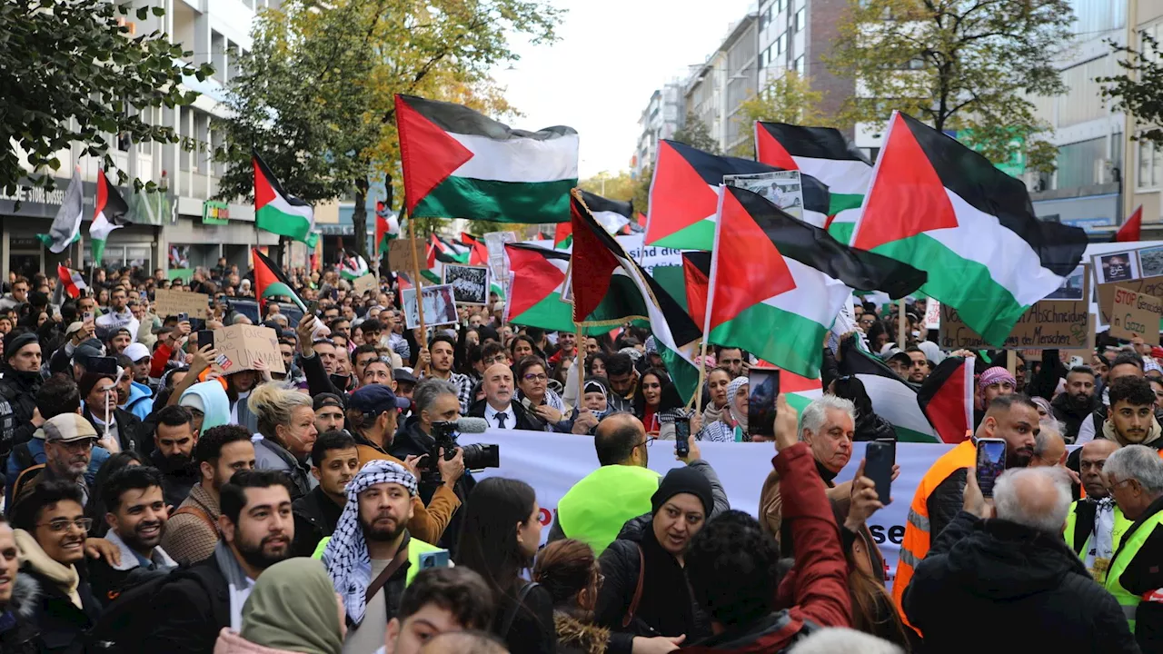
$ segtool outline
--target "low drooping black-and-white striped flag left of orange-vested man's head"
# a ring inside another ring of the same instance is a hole
[[[900,378],[879,358],[864,351],[856,339],[841,344],[837,362],[841,376],[855,375],[864,383],[864,390],[872,400],[872,411],[897,429],[901,442],[941,442],[918,403],[916,389]]]

